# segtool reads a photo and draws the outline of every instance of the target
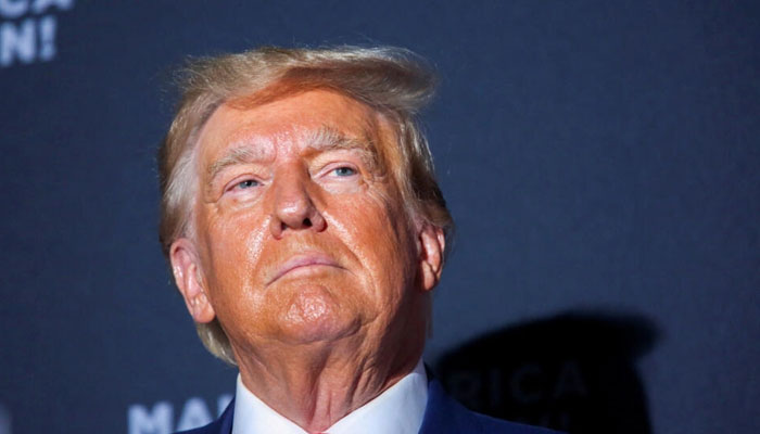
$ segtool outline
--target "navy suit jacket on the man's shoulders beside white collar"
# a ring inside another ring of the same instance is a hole
[[[206,426],[178,434],[230,434],[235,400],[216,421]],[[428,407],[425,409],[419,434],[549,434],[554,431],[521,425],[466,409],[449,398],[441,384],[431,379],[428,385]],[[273,433],[275,434],[275,433]],[[360,434],[360,433],[357,433]]]

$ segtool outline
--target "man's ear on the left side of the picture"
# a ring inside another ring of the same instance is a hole
[[[185,298],[185,305],[195,322],[211,322],[216,314],[208,301],[205,279],[195,245],[186,238],[172,243],[169,250],[174,281]]]

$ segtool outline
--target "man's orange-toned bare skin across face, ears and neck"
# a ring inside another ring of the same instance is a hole
[[[194,235],[170,250],[193,319],[218,318],[245,386],[307,432],[414,369],[444,247],[366,151],[315,148],[325,128],[393,140],[381,115],[327,90],[217,108],[199,137]]]

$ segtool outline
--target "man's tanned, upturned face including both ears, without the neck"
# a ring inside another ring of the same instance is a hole
[[[373,146],[388,140],[381,116],[337,92],[220,106],[199,137],[194,239],[172,248],[194,319],[218,318],[236,353],[398,344],[425,323],[442,235],[383,175]]]

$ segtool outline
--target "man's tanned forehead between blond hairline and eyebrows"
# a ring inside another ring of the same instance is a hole
[[[330,129],[346,138],[376,143],[380,119],[368,105],[329,90],[312,90],[266,104],[219,106],[199,136],[201,164],[230,146],[252,144],[262,157],[275,157],[283,144],[307,145],[304,138]],[[269,155],[271,154],[271,155]]]

